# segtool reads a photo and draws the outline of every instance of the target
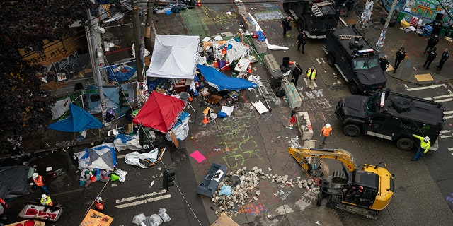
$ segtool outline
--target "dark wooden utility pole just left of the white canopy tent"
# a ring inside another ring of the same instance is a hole
[[[137,66],[137,107],[142,107],[146,102],[147,90],[144,83],[144,43],[139,17],[140,8],[137,1],[132,0],[132,24],[134,25],[134,52],[135,65]]]

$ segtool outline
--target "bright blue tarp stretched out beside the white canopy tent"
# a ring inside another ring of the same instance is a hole
[[[225,76],[222,72],[217,71],[217,69],[205,66],[201,64],[197,64],[197,68],[200,69],[200,73],[205,77],[205,80],[209,83],[214,84],[217,86],[217,90],[243,90],[248,88],[256,88],[258,85],[252,83],[243,78],[233,78],[229,76]]]

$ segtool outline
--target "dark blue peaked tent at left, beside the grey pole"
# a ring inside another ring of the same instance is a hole
[[[69,117],[47,126],[48,129],[64,132],[80,132],[101,127],[103,127],[101,121],[86,112],[86,110],[73,104],[69,105]]]

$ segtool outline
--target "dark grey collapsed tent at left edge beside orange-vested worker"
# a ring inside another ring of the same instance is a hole
[[[30,167],[15,165],[0,167],[0,198],[28,195],[28,172]]]

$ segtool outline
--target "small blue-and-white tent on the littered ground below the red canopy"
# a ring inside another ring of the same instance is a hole
[[[113,143],[103,143],[74,153],[79,159],[79,169],[105,169],[113,171],[116,167],[116,153]]]

